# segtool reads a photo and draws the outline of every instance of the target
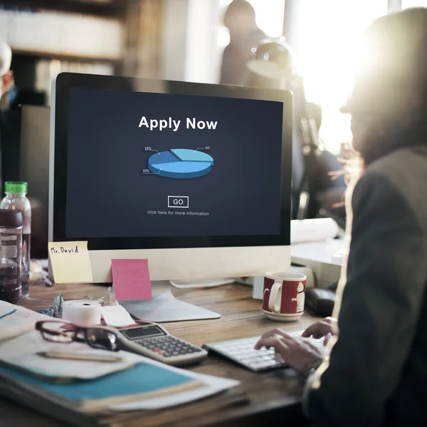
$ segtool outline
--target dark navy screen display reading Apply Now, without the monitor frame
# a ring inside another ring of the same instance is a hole
[[[72,88],[68,114],[67,238],[280,233],[283,102]]]

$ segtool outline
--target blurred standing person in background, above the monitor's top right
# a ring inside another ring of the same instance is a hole
[[[246,63],[251,49],[265,33],[258,28],[255,10],[246,0],[233,0],[224,15],[224,25],[230,32],[230,43],[223,52],[221,80],[223,85],[244,85],[248,78]]]

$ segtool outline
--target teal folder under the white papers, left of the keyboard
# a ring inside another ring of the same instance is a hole
[[[55,384],[0,365],[0,388],[18,387],[47,401],[81,412],[96,412],[115,404],[152,399],[204,386],[184,372],[141,362],[131,369],[91,380]]]

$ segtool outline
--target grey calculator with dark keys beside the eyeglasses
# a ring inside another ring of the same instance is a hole
[[[194,364],[208,355],[205,349],[172,336],[156,323],[145,322],[135,327],[121,328],[119,332],[121,349],[165,364],[173,366]]]

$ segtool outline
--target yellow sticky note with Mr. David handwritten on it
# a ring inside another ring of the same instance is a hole
[[[88,242],[49,243],[48,253],[55,283],[92,282]]]

